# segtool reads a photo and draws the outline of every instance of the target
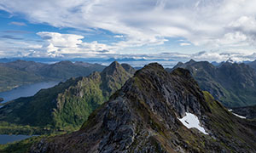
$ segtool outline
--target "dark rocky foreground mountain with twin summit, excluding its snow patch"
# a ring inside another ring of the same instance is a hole
[[[208,134],[178,118],[192,113]],[[255,123],[202,92],[189,71],[149,64],[94,111],[79,131],[42,139],[31,152],[254,152]]]

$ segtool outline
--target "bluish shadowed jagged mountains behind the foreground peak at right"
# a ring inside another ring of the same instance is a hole
[[[248,65],[225,62],[214,66],[207,61],[190,60],[173,69],[177,67],[188,69],[202,90],[227,107],[256,104],[256,72]]]

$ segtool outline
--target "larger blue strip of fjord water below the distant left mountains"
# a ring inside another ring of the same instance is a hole
[[[8,102],[13,99],[18,99],[20,97],[28,97],[32,96],[42,88],[51,88],[54,87],[59,82],[38,82],[34,84],[28,84],[24,86],[20,86],[18,88],[14,88],[7,92],[0,93],[0,97],[3,98],[3,102]]]

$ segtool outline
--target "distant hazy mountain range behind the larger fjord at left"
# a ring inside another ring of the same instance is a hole
[[[104,67],[71,61],[61,61],[51,65],[25,60],[0,63],[0,92],[34,82],[63,81],[70,77],[85,77],[92,71],[102,71]]]

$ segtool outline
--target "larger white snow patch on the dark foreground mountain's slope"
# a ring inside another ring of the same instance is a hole
[[[201,131],[202,133],[208,134],[208,133],[206,132],[205,128],[200,126],[200,122],[199,122],[199,120],[198,120],[198,117],[195,116],[195,115],[192,114],[192,113],[186,112],[186,115],[183,116],[183,118],[177,118],[177,119],[178,119],[180,122],[182,122],[185,127],[188,127],[188,128],[195,127],[195,128],[197,128],[199,131]]]

